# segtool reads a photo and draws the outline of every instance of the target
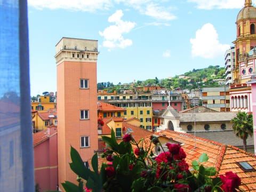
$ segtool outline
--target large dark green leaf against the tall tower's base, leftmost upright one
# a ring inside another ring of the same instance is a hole
[[[89,169],[87,169],[87,167],[85,167],[81,156],[79,155],[77,150],[72,146],[70,148],[70,156],[72,160],[72,162],[69,163],[71,170],[74,173],[76,173],[79,177],[87,180],[92,173]]]

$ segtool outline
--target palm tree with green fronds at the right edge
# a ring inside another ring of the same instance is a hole
[[[230,122],[233,123],[232,128],[236,136],[243,140],[244,150],[247,151],[246,140],[249,135],[252,137],[253,134],[252,115],[247,114],[246,112],[238,112],[236,117],[231,119]]]

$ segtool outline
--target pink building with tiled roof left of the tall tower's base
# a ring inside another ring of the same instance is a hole
[[[33,134],[35,184],[39,191],[56,190],[58,185],[57,126]]]

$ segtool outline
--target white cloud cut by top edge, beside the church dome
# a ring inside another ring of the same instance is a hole
[[[188,0],[196,3],[197,9],[241,9],[244,6],[244,0]]]

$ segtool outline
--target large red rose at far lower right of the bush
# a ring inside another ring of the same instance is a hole
[[[223,184],[220,186],[225,192],[234,191],[235,188],[238,188],[241,185],[241,179],[237,176],[237,174],[232,171],[226,172],[226,177],[224,175],[220,175],[220,179]]]

